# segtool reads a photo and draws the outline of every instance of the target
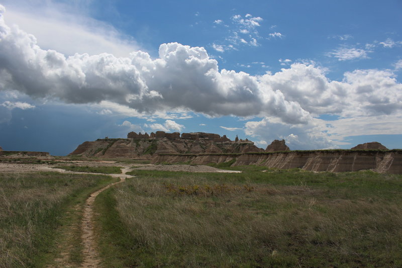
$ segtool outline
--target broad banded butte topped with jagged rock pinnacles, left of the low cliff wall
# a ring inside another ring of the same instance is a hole
[[[247,153],[264,151],[248,140],[231,141],[212,133],[135,133],[127,139],[98,139],[79,145],[70,155],[152,159],[159,154]],[[148,138],[146,138],[148,137]],[[151,138],[152,137],[152,138]]]

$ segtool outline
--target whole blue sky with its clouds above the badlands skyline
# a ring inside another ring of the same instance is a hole
[[[402,2],[0,0],[0,146],[130,131],[402,148]]]

